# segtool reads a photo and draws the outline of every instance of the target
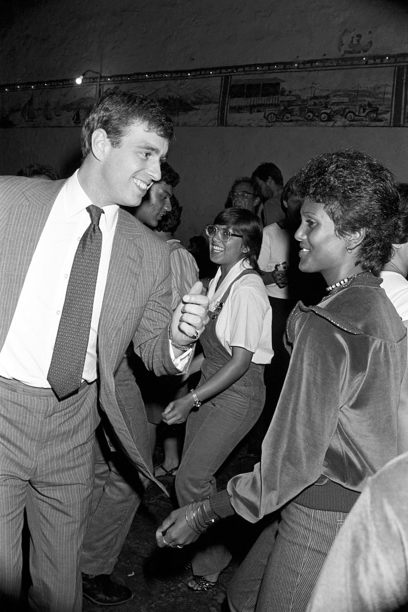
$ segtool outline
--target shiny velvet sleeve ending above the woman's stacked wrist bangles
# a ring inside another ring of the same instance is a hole
[[[232,507],[250,522],[279,509],[319,479],[348,387],[341,330],[313,313],[299,317],[297,327],[261,462],[253,472],[232,478],[227,487]]]

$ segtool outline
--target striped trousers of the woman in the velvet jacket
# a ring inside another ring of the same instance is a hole
[[[346,512],[288,504],[228,585],[231,612],[304,612]]]

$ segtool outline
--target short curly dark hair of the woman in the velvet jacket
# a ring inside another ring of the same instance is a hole
[[[390,170],[360,151],[346,149],[313,157],[295,175],[301,198],[323,204],[338,236],[366,230],[356,264],[378,272],[392,255],[399,194]]]

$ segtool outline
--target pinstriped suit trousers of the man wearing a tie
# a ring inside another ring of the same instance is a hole
[[[1,602],[17,606],[20,599],[24,507],[30,610],[81,610],[79,561],[93,485],[96,395],[96,383],[83,384],[58,401],[50,389],[0,378],[1,610]]]

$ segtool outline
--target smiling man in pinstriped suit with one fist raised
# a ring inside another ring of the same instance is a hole
[[[20,596],[24,507],[30,609],[81,610],[78,562],[93,485],[97,400],[127,456],[153,477],[136,446],[132,415],[121,409],[126,398],[121,406],[117,401],[114,375],[130,341],[158,375],[182,370],[184,348],[204,329],[206,299],[197,286],[169,326],[168,253],[119,206],[138,206],[160,179],[171,138],[171,122],[157,103],[111,92],[84,122],[84,160],[68,181],[0,179],[2,610],[14,609]],[[59,400],[47,373],[90,204],[104,214],[83,382]]]

